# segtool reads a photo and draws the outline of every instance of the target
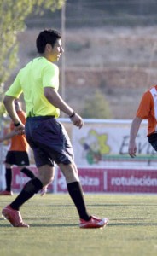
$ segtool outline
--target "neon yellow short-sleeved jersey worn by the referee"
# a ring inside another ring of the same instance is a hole
[[[23,92],[26,116],[59,117],[60,110],[46,99],[44,87],[53,87],[56,91],[58,90],[59,68],[44,57],[38,57],[20,69],[5,95],[18,98]]]

